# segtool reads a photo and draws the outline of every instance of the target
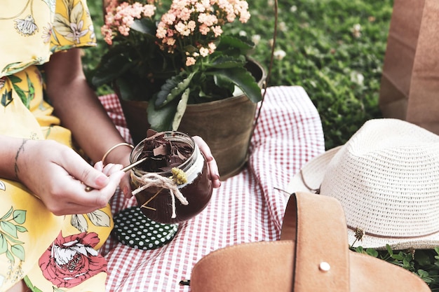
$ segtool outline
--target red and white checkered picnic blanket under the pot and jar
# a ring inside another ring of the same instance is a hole
[[[130,141],[115,95],[100,97],[109,116]],[[133,249],[109,239],[107,291],[190,291],[180,286],[191,269],[215,249],[243,242],[272,241],[281,233],[288,181],[305,162],[325,151],[316,107],[299,86],[267,89],[250,144],[248,165],[215,189],[208,207],[181,223],[175,238],[154,250]],[[135,205],[114,196],[113,211]]]

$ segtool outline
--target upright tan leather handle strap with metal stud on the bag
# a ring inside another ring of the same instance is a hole
[[[313,291],[349,291],[346,237],[344,211],[335,198],[309,193],[290,196],[281,240],[296,243],[293,291],[306,291],[309,287]]]

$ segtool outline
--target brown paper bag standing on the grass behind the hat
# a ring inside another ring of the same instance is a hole
[[[439,134],[439,0],[395,0],[379,107]]]

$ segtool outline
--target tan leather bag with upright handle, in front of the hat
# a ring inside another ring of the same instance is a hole
[[[196,263],[191,292],[424,292],[417,275],[349,250],[341,204],[311,193],[291,195],[281,240],[236,244]]]

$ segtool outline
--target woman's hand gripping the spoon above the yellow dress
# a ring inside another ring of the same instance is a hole
[[[23,140],[15,168],[17,179],[55,215],[105,207],[125,174],[122,165],[93,168],[73,149],[50,140]]]

